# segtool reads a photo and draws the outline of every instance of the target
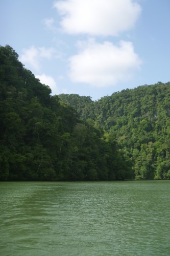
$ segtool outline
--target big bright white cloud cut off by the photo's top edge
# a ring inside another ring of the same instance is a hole
[[[141,13],[133,0],[65,0],[54,3],[70,34],[113,35],[131,29]]]

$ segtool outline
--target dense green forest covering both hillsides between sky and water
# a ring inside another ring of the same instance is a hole
[[[92,101],[60,94],[0,47],[0,179],[170,179],[170,82]]]

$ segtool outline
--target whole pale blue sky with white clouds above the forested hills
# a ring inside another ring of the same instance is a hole
[[[170,74],[169,0],[0,0],[0,45],[52,94],[98,100]]]

